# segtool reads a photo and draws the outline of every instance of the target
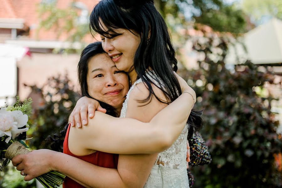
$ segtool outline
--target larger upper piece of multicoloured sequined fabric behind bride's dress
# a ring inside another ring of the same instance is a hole
[[[200,133],[193,135],[189,140],[190,159],[189,166],[208,165],[211,162],[209,148]]]

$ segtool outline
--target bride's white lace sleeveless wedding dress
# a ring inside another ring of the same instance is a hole
[[[158,78],[154,73],[147,72],[146,74],[154,83],[158,84],[156,82]],[[142,82],[141,78],[128,91],[121,109],[121,118],[125,118],[130,92],[140,82]],[[187,126],[188,124],[185,125],[181,134],[170,148],[158,154],[144,188],[189,188],[186,169]]]

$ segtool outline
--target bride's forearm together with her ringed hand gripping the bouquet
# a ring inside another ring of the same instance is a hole
[[[29,154],[18,155],[12,159],[12,162],[17,167],[17,170],[24,170],[24,173],[28,174],[24,177],[25,181],[54,170],[61,172],[85,187],[136,187],[128,185],[117,169],[96,166],[71,155],[49,149],[40,149]]]

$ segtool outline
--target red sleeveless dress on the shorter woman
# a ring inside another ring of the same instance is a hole
[[[93,165],[97,165],[97,166],[101,166],[101,167],[105,167],[105,168],[114,168],[117,169],[118,167],[118,159],[119,159],[119,155],[118,154],[109,154],[109,153],[105,153],[105,152],[101,152],[101,151],[96,151],[93,154],[88,154],[88,155],[84,155],[84,156],[77,156],[74,155],[70,152],[69,148],[68,148],[68,136],[69,136],[69,131],[70,131],[70,125],[67,128],[67,133],[66,133],[66,137],[64,140],[64,145],[63,145],[63,153],[64,154],[68,154],[71,155],[73,157],[76,157],[78,159],[82,159],[84,161],[87,161],[88,163],[91,163]],[[79,168],[79,167],[77,167]],[[93,177],[95,177],[95,175],[93,174]],[[69,177],[65,178],[65,181],[63,183],[63,188],[84,188],[84,186],[80,185],[79,183],[77,183],[76,181],[72,180]]]

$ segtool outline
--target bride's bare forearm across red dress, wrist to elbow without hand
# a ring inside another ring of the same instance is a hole
[[[67,154],[53,155],[51,167],[85,187],[126,187],[117,169],[99,167]]]

